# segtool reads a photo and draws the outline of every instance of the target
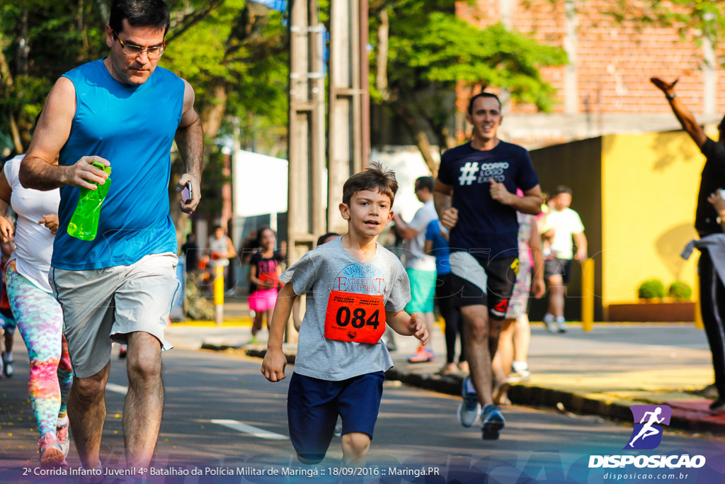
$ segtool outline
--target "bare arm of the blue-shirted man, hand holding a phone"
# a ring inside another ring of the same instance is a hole
[[[204,151],[204,134],[202,134],[202,120],[194,110],[194,88],[183,81],[183,113],[178,128],[176,128],[176,147],[186,166],[186,173],[181,175],[176,191],[181,192],[187,181],[191,181],[191,202],[181,200],[181,211],[191,213],[202,200],[202,152]]]

